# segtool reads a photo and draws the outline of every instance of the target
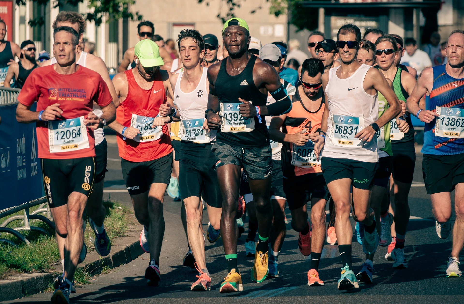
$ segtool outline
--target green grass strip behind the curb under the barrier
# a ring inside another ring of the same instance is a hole
[[[133,223],[133,220],[128,216],[132,211],[110,200],[103,201],[103,206],[106,209],[105,229],[110,239],[114,240],[123,237],[128,226]],[[30,208],[29,212],[32,213],[35,209],[37,207]],[[24,211],[11,216],[21,214],[24,214]],[[2,220],[6,220],[6,218]],[[18,226],[22,226],[20,220],[13,221],[7,227],[14,228]],[[12,234],[1,233],[1,238],[12,240],[16,246],[0,243],[0,278],[14,272],[46,272],[52,268],[52,265],[61,264],[54,231],[45,222],[39,220],[31,220],[31,226],[44,228],[49,234],[35,231],[21,232],[31,242],[31,246],[27,246]],[[94,239],[95,233],[87,224],[84,241],[89,252],[95,250]],[[76,271],[76,283],[86,284],[89,282],[89,278],[90,276],[84,271],[79,269]]]

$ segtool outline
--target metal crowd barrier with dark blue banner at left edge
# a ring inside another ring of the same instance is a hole
[[[0,201],[0,219],[24,210],[24,214],[7,218],[0,225],[0,233],[11,233],[22,242],[29,244],[19,231],[47,233],[41,227],[31,226],[31,220],[42,220],[54,229],[51,213],[42,186],[42,172],[38,165],[37,142],[34,124],[16,121],[15,111],[20,89],[0,87],[0,179],[6,190]],[[33,105],[32,110],[36,105]],[[15,132],[12,132],[15,130]],[[13,134],[17,133],[17,134]],[[10,162],[11,160],[11,162]],[[29,213],[29,208],[40,205]],[[46,213],[47,217],[39,213]],[[22,220],[22,226],[7,228],[15,220]],[[0,238],[0,242],[15,245],[11,240]]]

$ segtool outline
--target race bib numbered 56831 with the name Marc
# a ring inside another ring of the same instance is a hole
[[[361,143],[361,140],[354,138],[364,128],[364,116],[353,117],[334,115],[330,128],[330,141],[337,146],[353,147]]]

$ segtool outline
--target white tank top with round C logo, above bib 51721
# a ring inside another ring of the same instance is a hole
[[[184,93],[180,89],[180,80],[184,76],[184,69],[179,70],[179,76],[174,88],[174,104],[177,106],[181,120],[192,120],[205,118],[205,111],[208,106],[208,93],[206,85],[208,79],[206,77],[208,68],[203,68],[200,82],[197,87],[190,93]],[[209,132],[210,142],[216,141],[216,130]]]

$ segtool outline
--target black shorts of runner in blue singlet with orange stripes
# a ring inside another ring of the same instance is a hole
[[[458,183],[464,182],[464,153],[424,154],[422,175],[427,194],[453,191]]]

